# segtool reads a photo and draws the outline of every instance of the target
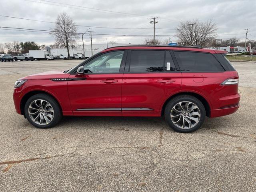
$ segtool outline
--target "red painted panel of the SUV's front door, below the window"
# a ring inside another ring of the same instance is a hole
[[[86,74],[70,75],[70,78],[86,78],[85,80],[68,81],[68,94],[72,110],[83,108],[121,108],[121,87],[123,74]],[[104,83],[104,80],[116,80],[114,83]],[[76,114],[82,115],[83,112]],[[94,114],[94,113],[93,113]],[[100,114],[100,113],[99,113]],[[119,114],[122,112],[109,112]],[[88,111],[84,112],[88,115]]]

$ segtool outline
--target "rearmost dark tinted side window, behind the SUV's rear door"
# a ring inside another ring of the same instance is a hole
[[[197,52],[174,51],[181,71],[191,72],[221,72],[224,71],[220,63],[212,54]]]

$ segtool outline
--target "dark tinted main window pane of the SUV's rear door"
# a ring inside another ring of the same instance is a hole
[[[131,73],[162,72],[164,68],[164,51],[134,50],[131,53]]]

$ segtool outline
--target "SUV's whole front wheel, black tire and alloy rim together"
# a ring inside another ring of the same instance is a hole
[[[33,108],[40,109],[41,108],[41,100],[44,100],[42,102],[43,106],[47,105],[46,109],[44,109],[44,110],[45,111],[48,110],[48,113],[47,112],[41,113],[40,110],[38,110],[38,112],[36,112],[36,110],[29,108],[31,105]],[[35,101],[36,101],[37,105],[35,104]],[[48,105],[47,103],[50,105]],[[29,112],[29,110],[30,110],[30,112]],[[28,119],[28,121],[30,122],[30,124],[32,124],[33,126],[35,126],[37,128],[51,128],[51,127],[55,126],[60,121],[60,119],[62,117],[61,108],[58,105],[58,102],[52,96],[50,96],[48,94],[44,94],[44,93],[40,93],[40,94],[31,96],[25,104],[24,111],[25,111],[25,116]],[[50,115],[52,116],[52,118],[50,118]],[[36,118],[37,116],[38,116],[38,118]],[[34,120],[32,118],[34,118]],[[47,123],[45,118],[47,118],[48,121],[50,120],[50,122]]]

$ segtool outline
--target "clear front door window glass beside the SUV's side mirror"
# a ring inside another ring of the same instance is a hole
[[[102,54],[84,65],[88,73],[118,73],[124,51],[115,51]]]

